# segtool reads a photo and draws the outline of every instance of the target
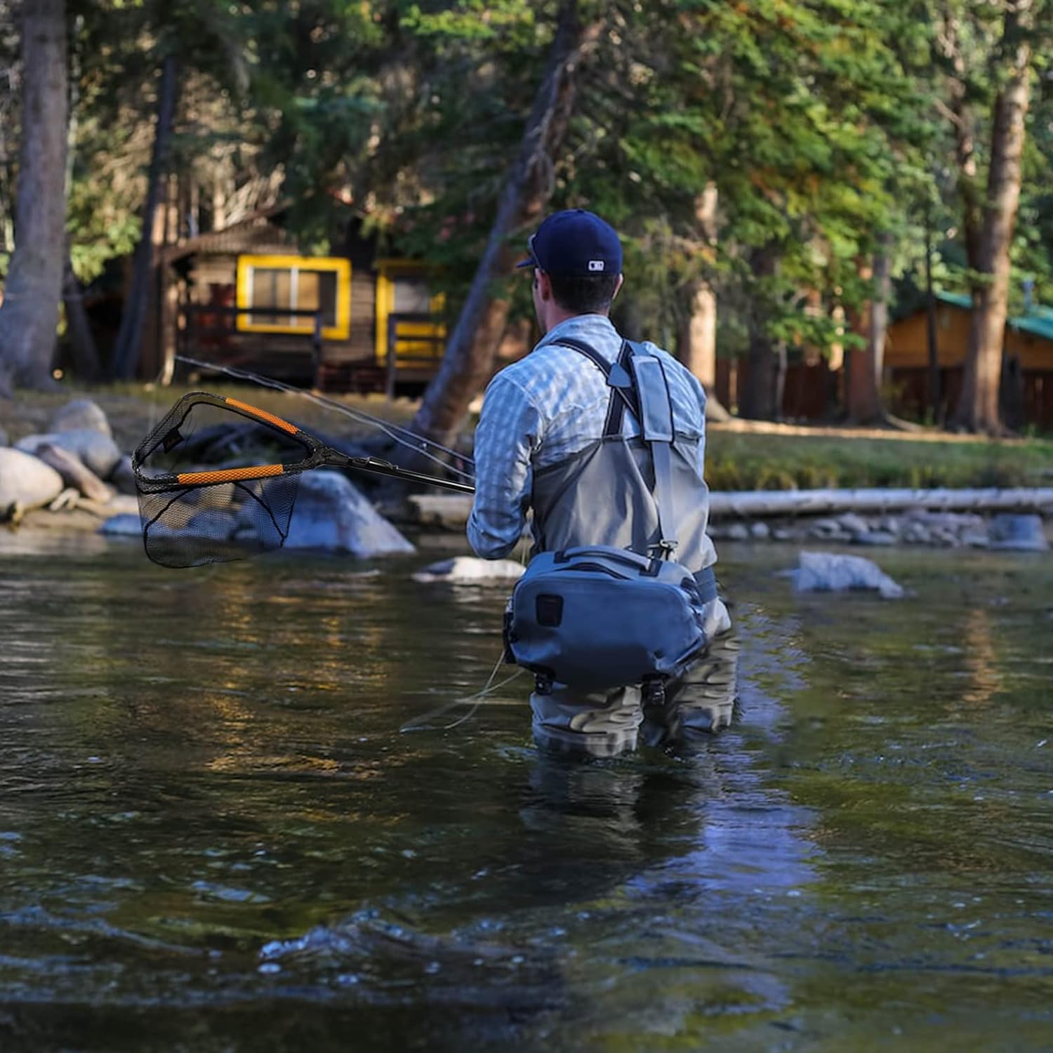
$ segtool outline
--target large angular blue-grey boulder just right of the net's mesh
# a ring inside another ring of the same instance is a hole
[[[339,472],[304,472],[286,549],[330,549],[369,559],[414,552],[413,545]]]

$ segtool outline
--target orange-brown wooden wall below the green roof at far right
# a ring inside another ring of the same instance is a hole
[[[886,369],[919,370],[929,365],[926,312],[918,311],[889,326],[885,343]],[[943,369],[965,365],[969,345],[969,312],[948,303],[936,306],[936,351]],[[1006,329],[1006,355],[1016,356],[1020,369],[1053,371],[1053,341]]]

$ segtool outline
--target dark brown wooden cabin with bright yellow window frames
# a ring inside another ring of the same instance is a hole
[[[178,354],[322,390],[419,392],[445,344],[432,284],[426,263],[378,257],[354,231],[344,255],[304,255],[276,210],[256,213],[162,250],[143,373]]]

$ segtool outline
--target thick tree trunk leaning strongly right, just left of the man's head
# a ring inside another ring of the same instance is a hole
[[[552,155],[567,133],[576,87],[574,73],[584,39],[577,0],[567,0],[560,9],[548,67],[498,202],[486,247],[446,344],[442,364],[428,385],[411,425],[437,442],[453,441],[469,403],[493,370],[494,353],[509,313],[508,301],[495,298],[494,284],[513,270],[517,255],[522,255],[509,245],[509,235],[535,222],[549,199]]]

